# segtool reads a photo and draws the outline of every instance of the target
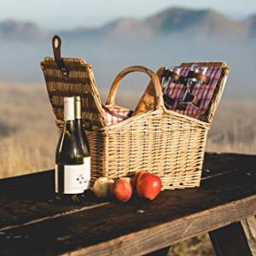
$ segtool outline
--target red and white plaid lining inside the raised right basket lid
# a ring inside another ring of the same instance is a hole
[[[175,84],[172,83],[169,85],[166,90],[167,96],[171,97],[175,102],[173,106],[167,105],[166,108],[172,109],[177,113],[183,113],[190,117],[200,118],[201,114],[206,113],[207,108],[212,100],[213,92],[218,84],[218,79],[221,75],[222,68],[221,67],[209,67],[207,69],[207,76],[210,77],[210,81],[208,84],[203,84],[201,86],[195,86],[193,90],[193,95],[196,96],[200,100],[199,109],[193,108],[192,106],[188,106],[186,110],[177,109],[178,103],[183,96],[183,91],[185,90],[185,86],[183,84]],[[187,76],[189,73],[189,67],[182,67],[181,74],[183,76]]]

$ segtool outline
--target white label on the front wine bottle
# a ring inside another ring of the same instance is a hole
[[[63,166],[64,180],[58,179],[58,166],[55,166],[55,192],[61,192],[59,182],[63,182],[63,193],[64,194],[80,194],[84,193],[84,165],[79,166]]]

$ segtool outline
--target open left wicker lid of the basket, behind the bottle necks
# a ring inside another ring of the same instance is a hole
[[[45,57],[41,62],[44,79],[47,86],[49,101],[56,116],[56,121],[63,120],[63,105],[65,96],[81,96],[82,119],[86,126],[102,128],[106,120],[102,109],[102,102],[90,63],[84,59],[62,58],[69,71],[66,77],[58,67],[55,59]]]

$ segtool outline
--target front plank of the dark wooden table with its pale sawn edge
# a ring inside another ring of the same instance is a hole
[[[254,164],[255,158],[243,170],[207,178],[201,188],[164,191],[155,201],[134,198],[125,204],[112,202],[21,224],[3,231],[1,253],[137,255],[156,251],[255,215]],[[222,170],[228,166],[227,161]]]

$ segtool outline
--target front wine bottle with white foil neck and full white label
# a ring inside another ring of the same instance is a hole
[[[79,195],[84,193],[84,155],[74,119],[74,97],[65,97],[64,129],[55,154],[55,193],[79,201]]]

